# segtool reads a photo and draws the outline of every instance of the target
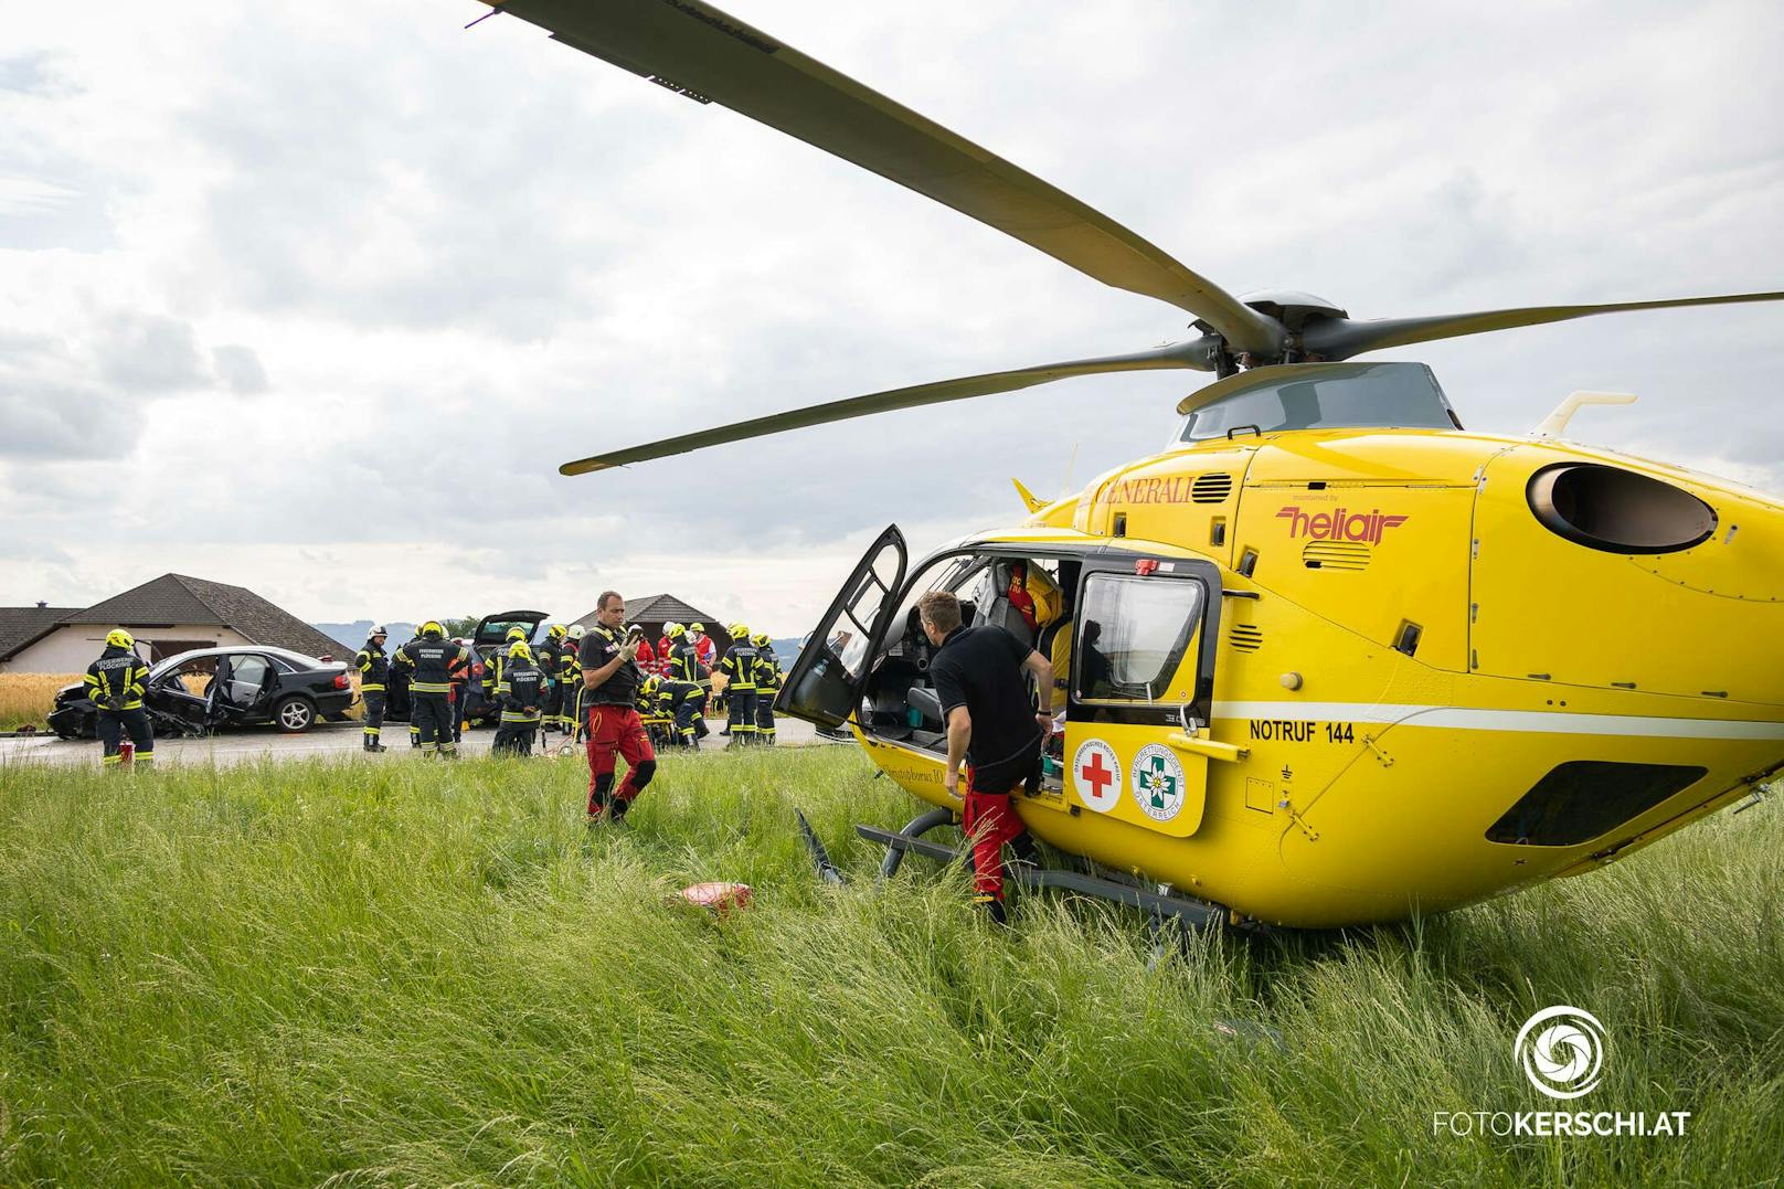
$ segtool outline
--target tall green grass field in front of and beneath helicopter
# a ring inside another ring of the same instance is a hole
[[[1447,918],[1149,969],[1101,905],[997,932],[926,861],[876,886],[849,823],[919,807],[871,775],[671,759],[591,834],[569,761],[5,769],[0,1184],[1779,1180],[1775,802]],[[856,882],[812,878],[794,805]],[[756,907],[667,902],[706,878]],[[1434,1135],[1557,1105],[1511,1060],[1550,1003],[1609,1030],[1575,1105],[1686,1137]]]

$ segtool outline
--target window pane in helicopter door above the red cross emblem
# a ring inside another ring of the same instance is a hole
[[[1177,669],[1202,618],[1204,589],[1193,578],[1092,575],[1079,609],[1081,702],[1177,703],[1195,682]]]

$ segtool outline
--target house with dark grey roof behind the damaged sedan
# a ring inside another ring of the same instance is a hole
[[[86,609],[0,607],[0,671],[84,673],[118,627],[150,662],[228,644],[337,659],[351,652],[248,587],[164,573]]]

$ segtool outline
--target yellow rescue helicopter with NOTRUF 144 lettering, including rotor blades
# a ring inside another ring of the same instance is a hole
[[[1463,428],[1418,362],[1365,352],[1615,311],[1784,293],[1354,320],[1231,296],[1047,182],[701,0],[503,0],[1195,316],[1170,346],[755,418],[562,468],[599,471],[1065,377],[1211,371],[1158,455],[912,566],[888,528],[778,711],[847,725],[949,818],[917,598],[960,594],[1058,661],[1063,734],[1022,819],[1097,871],[1061,882],[1236,923],[1334,927],[1609,864],[1784,766],[1784,503],[1565,437]],[[1163,884],[1142,889],[1138,880]],[[1047,882],[1047,880],[1044,880]],[[1113,893],[1111,893],[1113,889]]]

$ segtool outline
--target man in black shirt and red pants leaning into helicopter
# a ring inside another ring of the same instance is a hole
[[[942,786],[962,802],[960,828],[972,843],[974,903],[1003,925],[1003,848],[1035,862],[1029,837],[1010,793],[1040,778],[1040,748],[1053,732],[1053,662],[997,625],[962,627],[960,600],[931,591],[917,602],[922,632],[937,648],[929,678],[947,721],[947,771]],[[1024,669],[1033,673],[1040,705],[1029,702]],[[960,793],[960,761],[967,791]]]

